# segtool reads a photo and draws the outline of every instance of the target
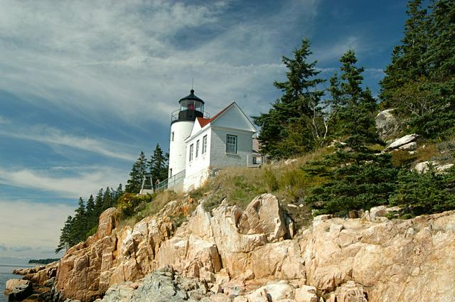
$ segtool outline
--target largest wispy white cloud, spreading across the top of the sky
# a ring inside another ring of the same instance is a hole
[[[168,124],[192,77],[214,112],[240,95],[267,107],[273,99],[262,87],[281,70],[277,41],[302,18],[310,28],[318,4],[290,1],[236,22],[223,1],[0,1],[0,89],[36,106],[137,126]],[[200,28],[216,34],[194,34]]]

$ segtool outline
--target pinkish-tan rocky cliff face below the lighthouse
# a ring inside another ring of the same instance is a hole
[[[171,202],[158,215],[122,229],[116,210],[106,210],[97,234],[60,261],[55,289],[62,298],[81,301],[106,291],[105,301],[453,301],[455,296],[455,212],[412,220],[319,216],[294,234],[269,194],[245,210],[222,203],[207,212],[201,200],[178,228],[166,215],[176,206]],[[167,275],[159,273],[163,269]],[[159,290],[167,284],[156,278],[170,282],[168,298],[132,298],[141,296],[144,286]]]

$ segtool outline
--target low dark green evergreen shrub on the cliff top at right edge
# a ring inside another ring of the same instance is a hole
[[[413,216],[454,210],[455,168],[444,173],[438,173],[434,167],[427,173],[400,171],[390,204],[404,207]]]

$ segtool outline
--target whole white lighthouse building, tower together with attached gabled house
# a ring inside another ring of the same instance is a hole
[[[171,118],[169,189],[186,192],[200,187],[216,168],[259,162],[253,152],[255,126],[235,102],[211,118],[194,90],[178,104]]]

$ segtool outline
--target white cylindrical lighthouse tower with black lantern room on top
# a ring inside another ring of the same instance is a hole
[[[171,114],[171,142],[169,144],[168,177],[185,170],[186,144],[193,129],[196,117],[204,117],[204,101],[196,95],[194,90],[178,101],[179,109]]]

